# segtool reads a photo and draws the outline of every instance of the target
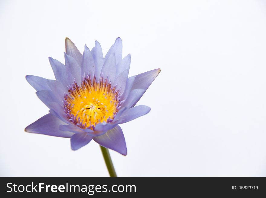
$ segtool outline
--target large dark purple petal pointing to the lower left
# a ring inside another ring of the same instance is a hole
[[[64,124],[64,122],[48,113],[26,127],[25,131],[57,137],[71,137],[74,134],[73,132],[59,130],[61,124]]]

